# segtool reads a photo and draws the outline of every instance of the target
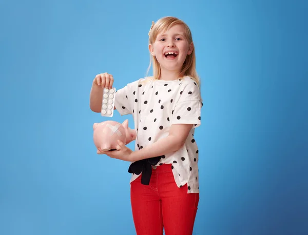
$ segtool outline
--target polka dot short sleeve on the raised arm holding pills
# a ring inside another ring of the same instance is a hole
[[[127,84],[125,87],[117,90],[114,97],[114,107],[122,115],[132,114],[133,110],[133,92],[136,90],[139,81]]]

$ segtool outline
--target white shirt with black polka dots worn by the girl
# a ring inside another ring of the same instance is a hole
[[[188,193],[199,192],[199,150],[194,132],[201,124],[202,102],[197,83],[188,76],[174,81],[140,79],[117,91],[115,107],[121,115],[133,116],[135,150],[168,136],[172,124],[194,124],[184,146],[162,155],[157,166],[171,164],[178,187],[187,183]],[[130,182],[138,176],[132,174]]]

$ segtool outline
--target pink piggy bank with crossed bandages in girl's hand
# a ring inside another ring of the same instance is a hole
[[[118,140],[125,145],[136,139],[136,131],[128,127],[128,120],[122,124],[105,121],[93,124],[93,141],[99,151],[116,149]]]

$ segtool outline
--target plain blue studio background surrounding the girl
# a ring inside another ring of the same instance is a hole
[[[97,155],[94,76],[143,77],[151,21],[191,28],[202,81],[194,234],[308,234],[305,1],[2,1],[0,234],[132,235],[127,162]],[[130,116],[114,120],[123,122]],[[132,147],[132,144],[129,144]],[[168,235],[168,234],[167,234]]]

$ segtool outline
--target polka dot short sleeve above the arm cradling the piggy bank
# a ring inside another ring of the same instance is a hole
[[[193,81],[187,83],[182,91],[174,110],[172,124],[194,124],[193,128],[201,125],[201,95],[200,89]]]

